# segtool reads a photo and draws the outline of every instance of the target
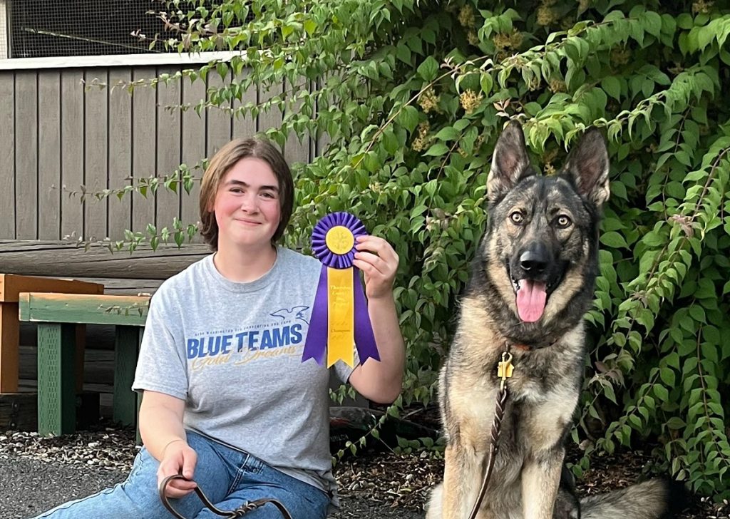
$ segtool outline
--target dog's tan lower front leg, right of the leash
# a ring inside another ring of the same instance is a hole
[[[563,447],[533,453],[522,469],[522,512],[524,519],[552,519],[565,458]]]

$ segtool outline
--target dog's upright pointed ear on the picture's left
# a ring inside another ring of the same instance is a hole
[[[512,121],[504,128],[494,147],[492,166],[487,177],[489,201],[501,199],[530,170],[522,125]]]

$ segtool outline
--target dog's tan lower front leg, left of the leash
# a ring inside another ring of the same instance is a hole
[[[447,445],[444,457],[442,519],[468,519],[482,481],[483,456],[474,448],[454,443]]]

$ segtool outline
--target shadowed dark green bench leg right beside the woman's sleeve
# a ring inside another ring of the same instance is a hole
[[[139,326],[117,326],[114,347],[114,421],[137,423],[137,393],[131,390],[139,354]]]

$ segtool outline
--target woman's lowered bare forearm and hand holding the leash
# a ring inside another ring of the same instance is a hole
[[[160,462],[157,484],[173,474],[193,478],[198,459],[188,445],[183,428],[185,401],[174,396],[145,391],[139,406],[139,434],[147,451]],[[166,495],[180,498],[193,491],[196,484],[173,480],[167,485]]]

